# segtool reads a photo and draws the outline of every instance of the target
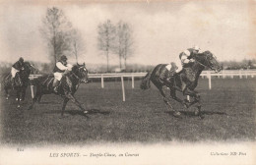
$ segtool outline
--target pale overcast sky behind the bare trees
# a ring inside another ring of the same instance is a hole
[[[46,44],[38,27],[47,7],[52,6],[42,3],[0,5],[1,61],[15,62],[20,56],[32,61],[48,61]],[[96,48],[96,27],[107,19],[114,24],[123,21],[132,27],[135,50],[128,60],[130,64],[169,63],[194,44],[210,50],[221,61],[249,59],[253,55],[255,58],[256,55],[252,18],[255,1],[254,4],[247,1],[145,1],[54,6],[62,9],[73,27],[82,33],[86,51],[79,57],[81,62],[105,63]],[[118,58],[111,57],[110,63],[118,64]]]

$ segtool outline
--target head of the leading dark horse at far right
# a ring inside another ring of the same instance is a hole
[[[216,56],[214,56],[210,51],[205,51],[203,53],[199,53],[195,56],[196,61],[201,63],[201,65],[214,70],[215,72],[221,71],[221,65],[218,63]]]

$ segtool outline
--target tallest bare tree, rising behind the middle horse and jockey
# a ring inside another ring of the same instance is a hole
[[[67,52],[72,49],[72,25],[62,10],[56,7],[48,8],[40,32],[47,41],[50,58],[55,63],[60,55],[69,54]]]

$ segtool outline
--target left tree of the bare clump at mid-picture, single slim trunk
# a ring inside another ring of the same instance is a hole
[[[98,26],[97,46],[98,49],[105,52],[106,56],[106,71],[108,72],[109,64],[109,51],[112,49],[113,42],[115,39],[115,27],[107,20],[103,24]]]

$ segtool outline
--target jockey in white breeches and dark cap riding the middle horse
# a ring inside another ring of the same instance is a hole
[[[53,69],[53,75],[54,75],[54,82],[53,87],[54,91],[58,92],[58,86],[60,83],[60,80],[62,79],[65,71],[71,71],[72,65],[67,63],[68,58],[65,55],[62,55],[60,57],[60,60],[56,63],[54,69]]]

